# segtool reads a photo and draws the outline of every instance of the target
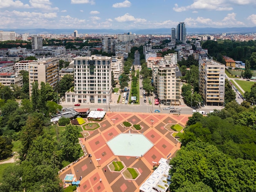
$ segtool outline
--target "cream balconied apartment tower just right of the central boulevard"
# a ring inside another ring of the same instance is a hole
[[[157,96],[163,105],[180,105],[181,72],[179,67],[161,61],[157,69]]]

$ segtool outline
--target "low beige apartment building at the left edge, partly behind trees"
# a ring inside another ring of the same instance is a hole
[[[19,73],[0,73],[0,83],[2,85],[11,87],[11,85],[17,85],[18,87],[22,87],[23,85],[23,78],[22,74]]]

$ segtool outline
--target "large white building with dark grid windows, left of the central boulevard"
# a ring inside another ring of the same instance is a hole
[[[109,107],[111,93],[111,57],[74,58],[74,92],[65,93],[66,104],[97,103]]]

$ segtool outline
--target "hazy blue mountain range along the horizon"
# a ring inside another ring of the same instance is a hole
[[[1,29],[0,29],[1,30]],[[3,31],[15,31],[16,33],[29,34],[70,34],[75,29],[10,29]],[[136,34],[171,34],[171,28],[159,29],[76,29],[78,33],[97,34],[123,34],[132,32]],[[216,34],[216,33],[256,33],[256,27],[231,27],[231,28],[186,28],[187,34]]]

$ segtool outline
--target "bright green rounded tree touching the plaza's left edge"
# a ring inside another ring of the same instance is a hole
[[[61,142],[63,155],[66,160],[75,161],[79,158],[80,145],[78,141],[79,128],[76,125],[66,125],[61,132]]]

